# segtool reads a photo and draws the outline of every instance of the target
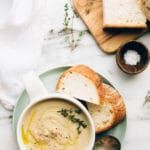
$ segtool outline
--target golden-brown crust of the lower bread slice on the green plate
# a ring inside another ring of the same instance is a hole
[[[126,117],[125,103],[119,92],[110,85],[107,85],[105,83],[103,83],[102,85],[105,92],[103,102],[104,104],[111,104],[113,108],[113,119],[106,127],[97,128],[96,133],[101,133],[111,129],[112,127],[123,121]]]

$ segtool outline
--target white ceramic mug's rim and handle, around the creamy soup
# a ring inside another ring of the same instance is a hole
[[[17,124],[17,141],[18,141],[19,148],[21,150],[25,149],[21,130],[22,130],[22,121],[23,121],[26,113],[30,109],[32,109],[33,106],[35,106],[36,104],[38,104],[40,102],[50,101],[52,99],[60,99],[60,100],[64,100],[64,101],[67,101],[67,102],[70,102],[70,103],[76,105],[78,108],[80,108],[82,110],[82,112],[87,117],[87,120],[89,121],[89,125],[90,125],[90,130],[91,130],[88,150],[92,150],[92,148],[94,147],[94,142],[95,142],[95,127],[94,127],[93,120],[92,120],[89,112],[85,108],[85,106],[82,103],[80,103],[78,100],[76,100],[68,95],[59,94],[59,93],[49,94],[47,92],[47,90],[45,89],[44,85],[42,84],[42,82],[39,80],[39,78],[37,76],[35,76],[33,73],[26,76],[24,81],[25,81],[26,90],[29,94],[31,103],[24,109],[24,111],[22,112],[22,114],[19,118],[18,124]]]

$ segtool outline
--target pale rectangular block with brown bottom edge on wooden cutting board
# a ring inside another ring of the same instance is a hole
[[[146,28],[138,0],[103,0],[104,28]]]

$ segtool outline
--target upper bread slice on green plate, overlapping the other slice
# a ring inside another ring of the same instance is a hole
[[[99,104],[101,93],[98,89],[101,86],[101,78],[96,72],[88,66],[77,65],[63,73],[57,83],[56,91],[83,101]]]

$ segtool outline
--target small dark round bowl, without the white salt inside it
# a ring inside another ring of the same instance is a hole
[[[136,65],[126,64],[124,55],[128,50],[134,50],[140,55],[140,62],[138,62]],[[137,41],[130,41],[124,44],[116,53],[116,62],[119,68],[123,72],[131,75],[143,72],[149,64],[149,59],[150,55],[148,48],[143,43]]]

